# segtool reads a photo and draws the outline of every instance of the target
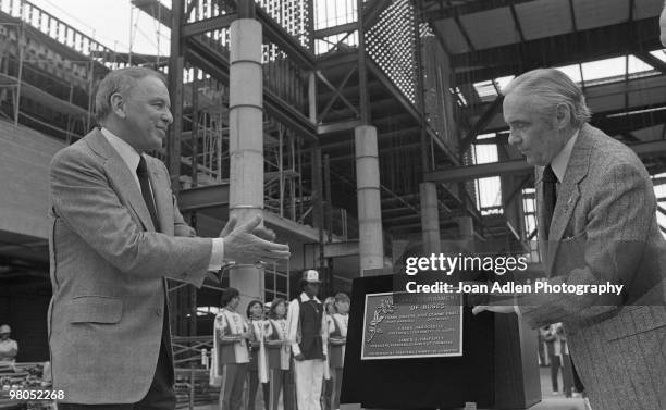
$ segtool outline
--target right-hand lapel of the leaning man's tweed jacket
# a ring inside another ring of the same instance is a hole
[[[588,137],[590,133],[590,126],[584,125],[579,135],[574,149],[571,150],[571,157],[569,158],[569,164],[565,173],[564,181],[560,184],[559,192],[557,195],[557,203],[555,211],[553,212],[553,221],[551,223],[551,229],[548,233],[548,264],[546,272],[552,272],[555,256],[559,248],[559,243],[563,239],[566,227],[569,224],[569,220],[574,215],[576,206],[580,198],[579,183],[588,175],[588,169],[590,167],[590,152],[592,148],[592,141]],[[543,206],[543,198],[541,201]]]

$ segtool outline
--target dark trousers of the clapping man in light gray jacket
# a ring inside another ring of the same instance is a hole
[[[164,341],[160,345],[160,356],[158,359],[155,376],[146,396],[135,403],[126,405],[76,405],[59,402],[58,410],[173,410],[175,409],[176,397],[173,390],[173,366],[168,353]],[[113,383],[113,381],[109,381]]]

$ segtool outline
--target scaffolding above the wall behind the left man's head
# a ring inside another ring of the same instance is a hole
[[[94,126],[95,87],[150,58],[116,53],[27,0],[0,0],[0,115],[71,144]]]

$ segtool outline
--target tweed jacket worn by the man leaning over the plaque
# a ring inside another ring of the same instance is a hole
[[[536,170],[539,226],[543,169]],[[624,284],[619,297],[521,299],[534,328],[564,322],[594,410],[666,409],[666,241],[650,176],[634,152],[584,125],[541,237],[551,283]]]

